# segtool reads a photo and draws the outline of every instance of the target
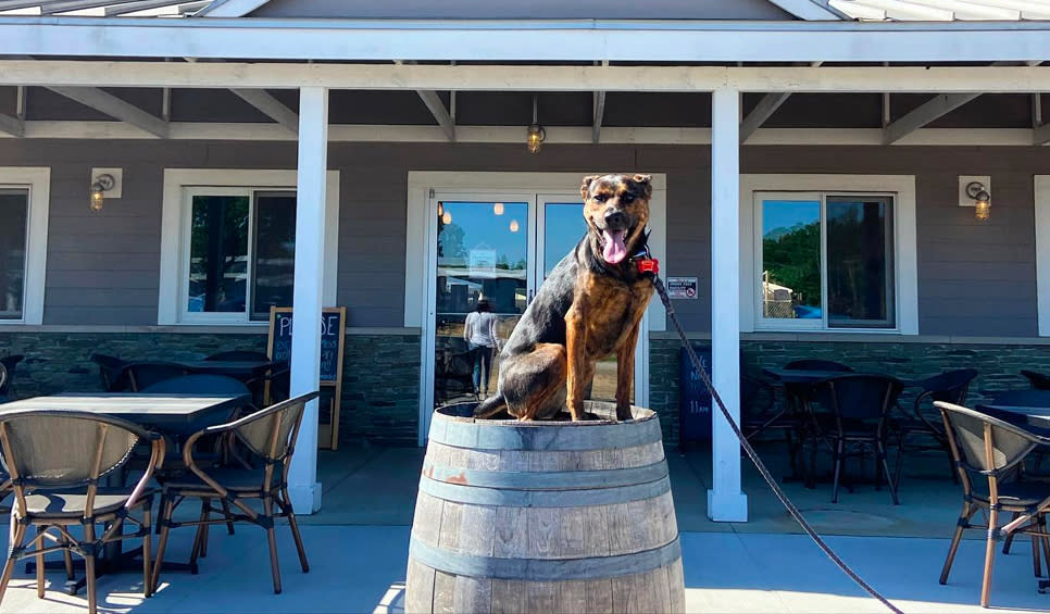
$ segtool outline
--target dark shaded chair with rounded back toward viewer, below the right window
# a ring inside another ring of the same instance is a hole
[[[846,459],[862,456],[863,448],[875,451],[875,488],[879,487],[879,469],[889,483],[893,504],[899,505],[897,485],[886,461],[886,439],[889,429],[889,412],[897,404],[903,385],[888,375],[843,374],[829,377],[813,385],[809,400],[815,401],[826,412],[810,406],[817,439],[832,448],[835,478],[832,486],[832,503],[838,502],[838,485]],[[850,447],[858,449],[850,451]]]

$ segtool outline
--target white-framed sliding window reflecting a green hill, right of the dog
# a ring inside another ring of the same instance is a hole
[[[745,330],[917,334],[912,177],[742,179]]]

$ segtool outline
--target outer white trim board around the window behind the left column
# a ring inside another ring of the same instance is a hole
[[[282,128],[284,129],[284,128]],[[157,324],[160,326],[199,326],[202,322],[182,322],[180,296],[185,271],[183,209],[184,188],[282,188],[296,191],[296,171],[238,168],[165,168],[163,208],[161,213],[161,268],[158,292]],[[325,272],[324,303],[336,304],[339,264],[339,172],[327,173],[325,201]],[[229,324],[222,323],[218,324]],[[245,322],[235,326],[258,327],[260,323]]]

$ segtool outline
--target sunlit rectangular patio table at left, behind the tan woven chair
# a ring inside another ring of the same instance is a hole
[[[175,441],[178,452],[179,441],[200,430],[226,419],[229,413],[251,402],[248,394],[148,394],[148,393],[113,393],[85,392],[65,393],[53,397],[34,397],[0,405],[0,414],[22,410],[57,410],[78,411],[105,414],[134,422],[143,427],[161,433]],[[114,472],[114,474],[120,472]],[[118,479],[111,475],[111,479]],[[120,484],[109,486],[122,486]],[[141,571],[141,562],[135,559],[141,555],[141,548],[122,552],[121,542],[107,544],[102,556],[98,561],[96,577],[107,573],[122,571]],[[77,563],[80,563],[77,561]],[[53,562],[57,568],[65,568],[63,562]],[[27,569],[34,569],[34,563],[27,564]],[[192,571],[187,564],[167,564],[165,571]],[[76,594],[84,587],[84,579],[66,582],[66,592]]]

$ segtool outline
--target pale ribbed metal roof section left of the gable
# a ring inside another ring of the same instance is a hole
[[[213,0],[0,0],[0,15],[70,15],[79,17],[183,17]]]

